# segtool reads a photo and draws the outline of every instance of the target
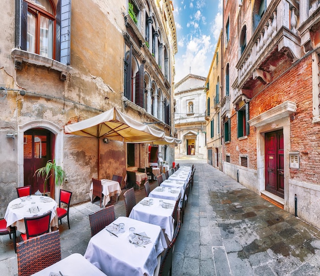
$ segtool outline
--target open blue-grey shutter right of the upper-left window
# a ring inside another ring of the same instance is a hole
[[[71,0],[58,1],[56,21],[56,60],[70,65]]]

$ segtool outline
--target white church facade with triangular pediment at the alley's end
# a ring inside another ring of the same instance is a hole
[[[181,139],[181,144],[175,147],[176,158],[185,155],[207,158],[204,83],[204,77],[189,74],[174,86],[174,124],[177,138]]]

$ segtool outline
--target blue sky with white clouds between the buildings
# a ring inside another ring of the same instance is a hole
[[[207,77],[222,28],[222,0],[173,0],[178,53],[175,83],[190,73]]]

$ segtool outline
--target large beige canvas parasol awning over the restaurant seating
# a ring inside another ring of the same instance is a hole
[[[126,143],[144,143],[165,137],[165,132],[155,130],[130,118],[117,110],[116,107],[95,117],[66,125],[64,131],[67,134],[96,137],[98,139],[107,138]]]

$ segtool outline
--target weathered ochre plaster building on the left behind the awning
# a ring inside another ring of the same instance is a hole
[[[66,172],[62,188],[73,192],[72,204],[89,199],[99,163],[100,178],[125,176],[129,166],[148,166],[148,144],[106,144],[66,135],[63,127],[116,107],[136,121],[173,134],[177,45],[172,3],[5,0],[2,4],[0,214],[4,216],[16,197],[17,187],[32,185],[32,192],[41,187],[33,173],[50,159]],[[159,146],[159,152],[164,150],[172,162],[174,148]],[[51,183],[53,198],[58,199],[58,191]]]

